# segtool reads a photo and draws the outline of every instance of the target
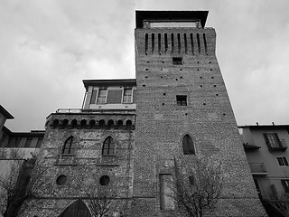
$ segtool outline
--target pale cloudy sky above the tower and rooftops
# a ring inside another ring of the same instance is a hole
[[[135,10],[208,10],[238,125],[289,124],[288,0],[0,0],[5,126],[80,108],[82,80],[134,79]]]

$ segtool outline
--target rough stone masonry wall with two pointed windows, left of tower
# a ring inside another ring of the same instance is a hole
[[[51,115],[51,123],[54,118],[70,119],[69,116]],[[91,116],[93,114],[89,114]],[[75,114],[72,118],[80,120],[87,117]],[[125,118],[134,119],[134,116]],[[76,153],[61,155],[62,146],[70,136],[76,138]],[[116,155],[102,156],[102,145],[109,136],[116,144]],[[89,197],[99,193],[116,195],[115,199],[121,201],[118,203],[124,203],[121,212],[128,212],[132,196],[134,137],[132,128],[48,125],[36,163],[38,171],[44,172],[39,177],[43,184],[38,189],[39,197],[30,203],[23,216],[58,216],[78,198],[87,203]],[[67,176],[67,182],[63,185],[56,184],[60,175]],[[109,184],[99,184],[102,175],[109,176]]]

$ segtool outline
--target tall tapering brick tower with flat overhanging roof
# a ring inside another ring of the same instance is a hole
[[[136,11],[136,125],[132,216],[175,216],[162,195],[173,159],[219,159],[217,216],[266,216],[216,58],[207,11]],[[191,137],[194,150],[182,147]],[[193,165],[190,165],[193,166]],[[172,204],[171,204],[172,205]]]

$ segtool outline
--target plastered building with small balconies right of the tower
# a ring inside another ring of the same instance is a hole
[[[240,126],[247,162],[263,202],[289,192],[289,125]]]

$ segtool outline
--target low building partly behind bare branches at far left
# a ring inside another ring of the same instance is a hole
[[[37,156],[42,140],[44,137],[44,130],[32,130],[31,132],[12,132],[5,127],[7,119],[14,117],[0,105],[0,216],[6,209],[8,201],[5,188],[11,190],[16,189],[23,184],[26,177],[32,174],[34,159]],[[28,181],[27,181],[28,182]],[[23,185],[26,185],[23,184]],[[21,186],[23,187],[23,186]],[[9,200],[14,200],[11,196]],[[17,199],[15,199],[17,200]],[[17,206],[16,206],[17,207]],[[19,207],[19,206],[18,206]]]

